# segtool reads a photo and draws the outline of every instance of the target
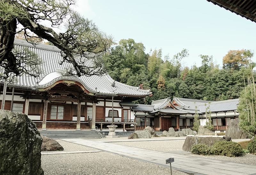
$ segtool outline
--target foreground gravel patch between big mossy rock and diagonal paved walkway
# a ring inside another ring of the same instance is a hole
[[[41,160],[45,175],[170,175],[169,168],[108,152],[42,155]]]

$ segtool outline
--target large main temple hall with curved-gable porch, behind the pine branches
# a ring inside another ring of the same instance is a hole
[[[14,47],[27,47],[35,52],[38,59],[42,59],[43,73],[37,78],[23,74],[6,85],[1,80],[2,109],[27,114],[42,130],[95,130],[111,124],[113,107],[114,124],[118,128],[136,129],[131,108],[137,105],[132,101],[147,97],[150,90],[116,82],[108,74],[65,76],[61,72],[72,65],[66,62],[59,64],[63,58],[55,46],[33,46],[25,40],[15,39]],[[90,67],[92,63],[86,64]],[[6,94],[3,94],[4,88]]]

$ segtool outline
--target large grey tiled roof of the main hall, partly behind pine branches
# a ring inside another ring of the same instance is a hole
[[[92,92],[95,95],[126,95],[126,96],[147,96],[151,94],[150,90],[141,90],[139,87],[129,86],[126,84],[122,84],[119,82],[115,82],[114,87],[111,85],[114,80],[108,75],[105,74],[103,76],[96,76],[93,75],[91,77],[81,76],[58,76],[53,78],[50,82],[46,84],[40,84],[40,82],[46,77],[47,75],[56,72],[56,70],[61,70],[67,68],[69,66],[72,67],[70,63],[64,62],[60,65],[60,61],[62,61],[62,57],[60,55],[60,49],[55,46],[38,44],[33,46],[32,44],[28,43],[25,40],[17,40],[14,41],[14,47],[17,49],[21,49],[27,46],[30,51],[35,52],[39,58],[43,60],[42,69],[43,73],[38,77],[28,77],[26,75],[22,75],[21,77],[17,77],[17,83],[10,84],[12,86],[16,86],[19,88],[26,88],[26,89],[35,89],[44,88],[52,85],[58,80],[74,80],[78,81],[84,85],[84,87]],[[87,66],[92,65],[92,62],[88,61],[86,63]],[[3,71],[3,69],[2,69]],[[45,82],[45,81],[42,81]],[[0,80],[0,83],[4,83],[3,80]]]

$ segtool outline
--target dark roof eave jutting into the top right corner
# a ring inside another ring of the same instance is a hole
[[[206,0],[215,5],[223,7],[241,17],[256,22],[256,1],[255,0]]]

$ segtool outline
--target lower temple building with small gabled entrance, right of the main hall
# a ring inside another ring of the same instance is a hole
[[[194,116],[197,113],[200,125],[206,125],[208,114],[211,115],[214,131],[225,131],[231,119],[239,117],[236,108],[239,99],[224,101],[206,101],[187,98],[165,98],[152,101],[151,105],[132,107],[137,129],[150,126],[157,131],[174,128],[193,128]]]

